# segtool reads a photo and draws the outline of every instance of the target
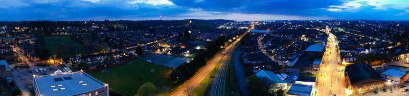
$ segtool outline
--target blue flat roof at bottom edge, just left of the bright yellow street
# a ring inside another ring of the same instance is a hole
[[[309,96],[312,92],[311,85],[292,84],[286,94]]]

